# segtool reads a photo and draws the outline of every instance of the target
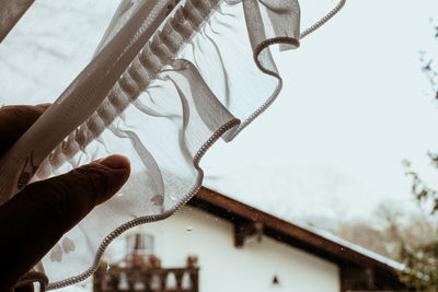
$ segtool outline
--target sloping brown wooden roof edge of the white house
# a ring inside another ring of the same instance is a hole
[[[391,278],[396,282],[397,272],[403,269],[403,265],[396,261],[336,236],[321,235],[310,227],[285,221],[205,187],[201,187],[188,203],[233,223],[237,247],[243,245],[245,236],[256,234],[258,231],[258,234],[262,233],[337,264],[341,269],[350,270],[351,267],[371,269],[374,273],[384,275],[384,278]],[[243,236],[243,241],[239,236]]]

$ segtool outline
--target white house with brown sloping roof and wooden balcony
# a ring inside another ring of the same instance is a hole
[[[127,236],[127,257],[102,266],[95,291],[404,290],[403,265],[207,188],[141,234]]]

